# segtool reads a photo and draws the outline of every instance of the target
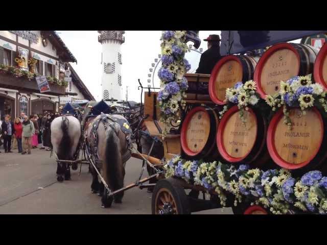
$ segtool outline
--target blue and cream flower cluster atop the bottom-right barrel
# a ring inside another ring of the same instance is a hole
[[[290,107],[300,108],[303,115],[306,114],[306,109],[313,106],[321,106],[327,112],[326,91],[323,91],[320,84],[312,83],[311,74],[293,77],[286,82],[281,81],[281,89],[275,95],[267,95],[266,103],[273,111],[276,107],[283,106],[284,124],[289,130],[292,130]]]

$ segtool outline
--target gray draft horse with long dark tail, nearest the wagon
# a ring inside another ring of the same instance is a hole
[[[84,129],[84,143],[87,148],[87,155],[96,164],[110,190],[115,191],[124,186],[125,165],[126,161],[131,157],[127,140],[130,134],[126,135],[120,124],[108,119],[108,117],[110,116],[110,118],[115,118],[118,121],[125,121],[127,125],[128,121],[121,115],[89,115],[90,108],[97,103],[89,102],[85,107],[81,122]],[[107,119],[102,120],[104,117]],[[99,183],[97,171],[92,164],[90,164],[90,171],[93,177],[91,191],[102,195],[102,207],[111,207],[113,201],[122,203],[124,192],[108,197],[109,193],[104,188],[103,183]]]

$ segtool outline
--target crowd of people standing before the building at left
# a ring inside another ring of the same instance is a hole
[[[39,144],[41,150],[51,151],[50,126],[57,116],[45,112],[44,115],[33,114],[28,117],[21,112],[20,117],[12,120],[10,115],[5,115],[0,121],[0,146],[4,145],[5,153],[12,153],[12,149],[17,148],[22,155],[31,154],[31,149],[36,149]]]

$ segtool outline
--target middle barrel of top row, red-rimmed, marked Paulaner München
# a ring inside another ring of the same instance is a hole
[[[277,93],[281,81],[311,74],[317,54],[316,48],[306,44],[279,43],[270,47],[254,70],[253,80],[262,99]]]

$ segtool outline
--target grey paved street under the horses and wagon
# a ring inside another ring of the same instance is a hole
[[[151,214],[151,193],[132,188],[125,192],[123,204],[110,209],[100,207],[97,194],[90,192],[88,166],[81,175],[72,170],[72,180],[58,183],[56,162],[50,152],[35,149],[31,155],[4,153],[0,150],[0,214]],[[130,159],[125,184],[139,174],[141,161]],[[231,214],[231,209],[206,210],[194,214]]]

